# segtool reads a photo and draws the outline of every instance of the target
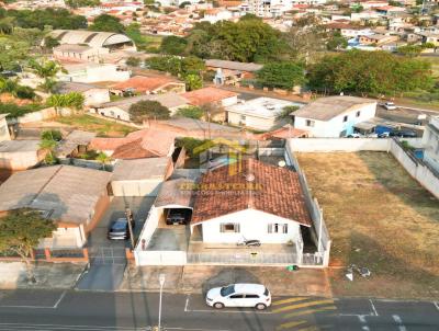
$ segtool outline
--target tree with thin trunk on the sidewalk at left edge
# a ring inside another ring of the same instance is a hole
[[[18,254],[26,264],[27,279],[35,283],[32,250],[41,239],[52,237],[55,230],[55,224],[37,210],[12,210],[0,218],[0,251]]]

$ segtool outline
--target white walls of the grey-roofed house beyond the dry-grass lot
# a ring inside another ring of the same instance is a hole
[[[322,111],[324,111],[324,109]],[[345,113],[339,114],[329,121],[316,121],[313,118],[295,116],[294,127],[309,132],[309,135],[313,137],[338,138],[344,130],[347,130],[347,134],[350,134],[350,130],[357,123],[374,117],[375,111],[376,102],[373,102],[352,106]],[[357,112],[360,112],[360,116],[358,117]],[[348,116],[347,122],[344,122],[345,116]],[[306,125],[307,119],[314,121],[314,127]]]

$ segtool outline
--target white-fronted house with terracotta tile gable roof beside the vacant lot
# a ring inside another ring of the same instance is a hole
[[[243,238],[302,242],[301,227],[311,227],[312,219],[299,174],[255,159],[244,160],[241,169],[230,174],[222,167],[202,176],[204,192],[194,197],[191,232],[199,228],[205,243],[236,244]]]

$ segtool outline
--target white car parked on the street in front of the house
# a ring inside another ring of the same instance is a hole
[[[217,309],[254,307],[263,310],[271,305],[271,294],[266,286],[260,284],[232,284],[210,289],[206,304]]]

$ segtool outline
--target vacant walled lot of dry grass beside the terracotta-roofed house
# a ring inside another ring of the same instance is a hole
[[[299,153],[333,238],[331,265],[368,266],[349,282],[331,267],[335,295],[439,297],[439,202],[385,152]]]

